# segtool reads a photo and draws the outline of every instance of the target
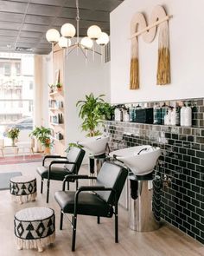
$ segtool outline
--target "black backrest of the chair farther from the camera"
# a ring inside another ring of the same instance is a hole
[[[78,174],[81,163],[85,156],[85,150],[82,148],[72,147],[67,154],[67,161],[76,162],[76,165],[66,164],[65,167],[72,173]]]

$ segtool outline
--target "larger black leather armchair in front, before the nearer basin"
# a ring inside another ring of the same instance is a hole
[[[61,207],[61,224],[63,214],[72,213],[73,239],[72,251],[75,250],[77,215],[97,216],[112,218],[115,215],[115,242],[118,243],[118,200],[128,171],[124,167],[111,162],[105,162],[99,171],[98,177],[87,175],[66,176],[63,181],[62,191],[56,192],[54,197]],[[95,186],[82,186],[77,191],[65,191],[66,181],[79,179],[95,179]],[[92,193],[90,193],[92,191]],[[82,192],[82,193],[81,193]]]

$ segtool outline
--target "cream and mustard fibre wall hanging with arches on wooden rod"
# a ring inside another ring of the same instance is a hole
[[[138,39],[142,35],[143,41],[151,43],[158,36],[158,62],[156,84],[164,85],[170,83],[170,55],[169,55],[169,26],[168,21],[172,16],[167,16],[162,6],[157,5],[151,13],[150,25],[147,26],[145,16],[137,12],[131,20],[131,75],[130,89],[139,89],[139,60]]]

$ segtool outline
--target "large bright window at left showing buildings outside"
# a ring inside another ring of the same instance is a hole
[[[0,136],[11,127],[20,131],[33,128],[34,71],[30,70],[34,70],[34,57],[5,55],[0,53]]]

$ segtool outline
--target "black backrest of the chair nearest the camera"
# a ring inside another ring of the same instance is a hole
[[[127,175],[128,170],[126,168],[105,161],[97,176],[96,185],[112,187],[116,191],[118,201],[124,188],[124,182],[127,178]],[[105,200],[107,203],[114,205],[115,195],[113,192],[96,191],[96,194],[98,194],[99,197]]]

